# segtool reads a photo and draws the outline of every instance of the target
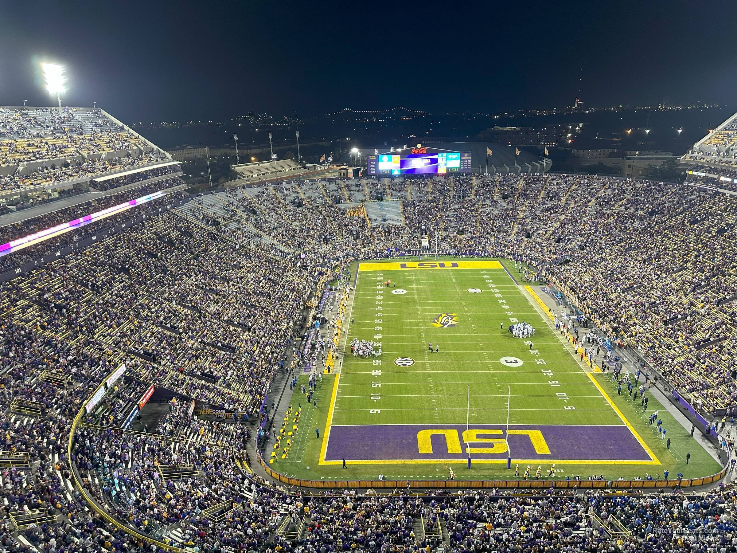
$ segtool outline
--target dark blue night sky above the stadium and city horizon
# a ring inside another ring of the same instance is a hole
[[[65,105],[125,122],[735,105],[736,23],[734,0],[0,0],[0,105],[52,105],[41,60],[66,67]]]

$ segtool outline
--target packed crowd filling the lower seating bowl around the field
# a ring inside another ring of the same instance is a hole
[[[513,257],[535,268],[705,408],[737,399],[728,372],[737,313],[733,302],[719,305],[736,293],[731,197],[570,175],[299,187],[218,192],[186,209],[152,209],[145,224],[0,285],[2,449],[34,461],[3,473],[4,546],[152,550],[101,520],[80,486],[130,531],[200,552],[411,551],[439,543],[458,552],[707,552],[733,545],[731,491],[303,497],[248,472],[241,422],[198,420],[180,403],[146,433],[122,431],[122,417],[150,382],[255,413],[293,325],[318,304],[326,283],[353,260],[416,251],[420,224],[439,229],[440,254]],[[377,194],[402,200],[405,225],[369,226],[330,201]],[[551,264],[566,255],[571,262]],[[123,363],[125,378],[80,420],[74,475],[65,447],[71,421]],[[14,399],[41,404],[41,414],[11,411]],[[43,509],[57,515],[55,523],[17,529],[10,521],[10,511]],[[293,540],[277,532],[290,520],[302,528]]]

